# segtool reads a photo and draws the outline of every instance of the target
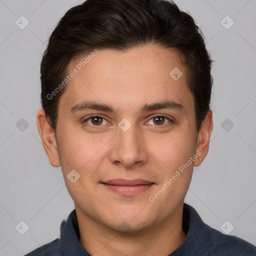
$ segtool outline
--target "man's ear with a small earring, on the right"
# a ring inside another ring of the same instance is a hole
[[[212,128],[212,111],[208,110],[204,120],[202,121],[200,130],[197,135],[196,152],[199,151],[201,152],[201,154],[198,154],[198,158],[194,161],[194,166],[200,165],[200,159],[203,161],[203,159],[206,157],[208,153],[209,139]]]

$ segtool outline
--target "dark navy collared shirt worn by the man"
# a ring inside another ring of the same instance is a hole
[[[245,240],[223,234],[205,224],[196,210],[184,203],[182,227],[186,233],[183,244],[169,256],[256,256],[256,247]],[[100,251],[95,252],[103,255]],[[79,242],[79,228],[75,210],[60,225],[57,238],[25,256],[90,256]],[[92,255],[93,256],[93,255]],[[164,255],[163,255],[164,256]]]

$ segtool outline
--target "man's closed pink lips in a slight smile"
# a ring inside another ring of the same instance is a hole
[[[111,179],[101,182],[107,189],[120,195],[131,196],[149,189],[154,182],[144,179]]]

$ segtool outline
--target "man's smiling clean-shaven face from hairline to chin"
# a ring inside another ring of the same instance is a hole
[[[203,150],[179,54],[144,45],[80,61],[59,100],[58,154],[48,154],[77,214],[133,231],[175,215]]]

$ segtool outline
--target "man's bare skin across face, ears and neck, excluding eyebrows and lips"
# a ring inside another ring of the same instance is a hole
[[[68,74],[79,61],[69,64]],[[169,75],[174,67],[183,72],[178,80]],[[182,104],[184,110],[138,112],[145,103],[169,99]],[[84,100],[105,103],[118,111],[70,113],[72,106]],[[99,125],[92,118],[82,122],[91,114],[103,117]],[[159,124],[154,114],[174,122],[163,119]],[[126,131],[118,127],[123,118],[131,123]],[[212,111],[207,112],[197,133],[193,95],[177,51],[154,44],[127,51],[99,49],[61,95],[56,134],[43,109],[37,113],[37,126],[51,165],[62,168],[74,201],[80,243],[89,254],[168,255],[184,242],[183,201],[193,167],[208,152]],[[196,151],[200,156],[154,202],[149,201]],[[67,178],[72,169],[80,174],[74,183]],[[154,184],[124,196],[100,183],[114,178],[141,178]]]

